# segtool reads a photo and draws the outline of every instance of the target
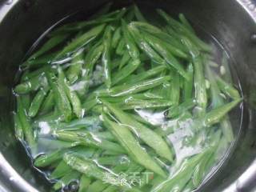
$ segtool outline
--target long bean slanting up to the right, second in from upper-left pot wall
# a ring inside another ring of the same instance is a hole
[[[98,36],[104,30],[105,24],[100,26],[95,26],[93,29],[89,30],[85,34],[82,34],[75,38],[70,44],[64,47],[64,49],[55,57],[55,60],[58,58],[62,58],[66,54],[70,54],[74,50],[78,50],[78,48],[82,46],[86,46],[87,43],[91,42],[94,38]]]

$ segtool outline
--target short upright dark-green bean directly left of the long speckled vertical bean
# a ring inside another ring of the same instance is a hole
[[[188,74],[189,79],[184,81],[184,100],[192,98],[193,93],[193,82],[194,82],[194,67],[193,64],[190,63],[187,66],[186,73]]]

